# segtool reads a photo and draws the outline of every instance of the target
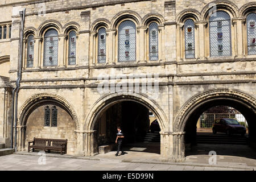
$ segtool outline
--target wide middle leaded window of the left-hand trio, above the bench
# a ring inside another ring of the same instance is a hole
[[[57,65],[58,45],[58,32],[54,29],[49,29],[44,35],[44,67]]]

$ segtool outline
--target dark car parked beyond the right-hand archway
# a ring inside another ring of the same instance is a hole
[[[217,132],[230,134],[241,134],[242,136],[246,133],[245,126],[240,125],[237,119],[233,118],[216,118],[212,127],[213,134]]]

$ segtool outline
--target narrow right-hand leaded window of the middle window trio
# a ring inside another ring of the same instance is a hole
[[[158,60],[158,24],[153,22],[149,26],[150,61]]]

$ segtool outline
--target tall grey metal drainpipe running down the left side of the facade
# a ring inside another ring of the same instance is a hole
[[[17,151],[17,121],[18,121],[17,106],[18,106],[18,93],[19,93],[19,86],[20,86],[20,79],[21,79],[21,69],[22,69],[23,31],[24,31],[25,13],[26,13],[26,8],[23,11],[19,12],[20,18],[22,19],[22,21],[21,21],[20,36],[19,36],[18,78],[16,80],[16,87],[13,90],[12,124],[14,123],[14,149],[15,149],[15,152]],[[14,100],[14,96],[15,96],[15,100]],[[15,107],[14,107],[14,104],[15,104]],[[14,119],[14,115],[15,115],[15,119]],[[14,119],[14,121],[13,121],[13,119]],[[13,128],[11,131],[12,131],[11,133],[13,134]],[[13,135],[11,137],[11,140],[13,140]],[[13,148],[13,141],[11,141],[11,147]]]

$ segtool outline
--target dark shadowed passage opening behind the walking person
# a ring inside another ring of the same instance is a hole
[[[117,150],[117,126],[125,135],[123,149],[127,154],[160,154],[158,121],[152,111],[135,101],[120,101],[100,112],[94,125],[98,154]]]

